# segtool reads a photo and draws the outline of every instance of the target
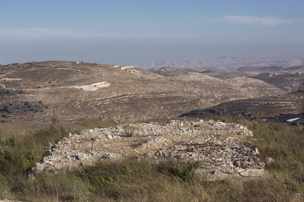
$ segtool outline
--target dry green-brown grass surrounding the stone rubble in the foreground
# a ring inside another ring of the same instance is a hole
[[[183,118],[182,118],[183,120]],[[183,120],[185,121],[185,120]],[[223,121],[223,120],[222,120]],[[27,201],[303,201],[304,127],[275,123],[246,124],[257,142],[269,175],[236,180],[199,180],[195,165],[126,159],[83,166],[67,174],[31,176],[30,167],[44,155],[44,146],[82,128],[109,127],[99,119],[49,126],[0,127],[0,199]],[[293,193],[301,193],[295,197]]]

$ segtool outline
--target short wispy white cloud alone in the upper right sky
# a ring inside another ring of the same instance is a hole
[[[227,22],[227,23],[235,23],[235,24],[243,24],[243,25],[284,25],[284,24],[292,24],[293,20],[288,19],[279,19],[275,17],[257,17],[257,16],[248,16],[248,15],[225,15],[224,17],[216,18],[218,22]]]

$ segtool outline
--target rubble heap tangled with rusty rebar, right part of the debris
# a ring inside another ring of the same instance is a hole
[[[238,144],[238,139],[228,136],[219,141],[216,136],[197,137],[186,143],[160,148],[146,153],[146,157],[170,157],[185,163],[200,163],[202,177],[228,177],[229,175],[258,176],[264,173],[264,162],[257,157],[257,148]]]

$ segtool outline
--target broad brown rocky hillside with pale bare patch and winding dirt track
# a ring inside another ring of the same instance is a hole
[[[0,66],[1,121],[115,118],[139,120],[178,116],[227,101],[285,94],[247,77],[216,78],[174,71],[64,61]]]

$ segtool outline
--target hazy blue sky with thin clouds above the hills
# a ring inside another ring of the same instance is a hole
[[[0,64],[304,54],[303,10],[303,0],[0,0]]]

